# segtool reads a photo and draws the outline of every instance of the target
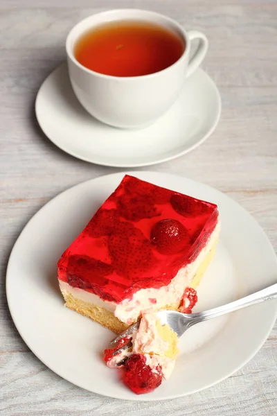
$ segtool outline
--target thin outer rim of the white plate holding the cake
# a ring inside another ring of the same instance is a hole
[[[172,178],[177,177],[177,178],[182,178],[183,180],[188,180],[190,182],[194,182],[196,184],[201,184],[202,186],[206,187],[206,189],[211,189],[213,191],[216,191],[217,193],[220,193],[221,196],[223,196],[223,198],[226,199],[226,201],[231,201],[231,203],[237,205],[243,212],[244,215],[247,215],[249,217],[249,219],[252,221],[252,223],[255,223],[256,227],[258,227],[260,229],[260,232],[262,232],[265,241],[267,241],[267,246],[268,246],[268,250],[271,251],[271,254],[275,257],[275,261],[276,261],[276,268],[277,268],[277,256],[276,253],[274,251],[273,246],[271,245],[271,242],[269,241],[269,238],[267,237],[267,234],[265,234],[264,229],[262,229],[262,227],[259,225],[258,221],[253,218],[253,216],[251,216],[251,214],[249,214],[249,211],[247,211],[246,209],[244,209],[244,207],[242,207],[240,204],[238,204],[238,202],[236,202],[235,200],[233,200],[233,198],[227,196],[225,193],[222,193],[221,191],[218,191],[216,188],[211,187],[208,184],[204,184],[203,182],[198,182],[195,181],[193,179],[191,179],[190,177],[182,177],[181,175],[175,175],[172,173],[163,173],[163,172],[158,172],[158,171],[129,171],[129,172],[118,172],[118,173],[111,173],[109,175],[100,175],[96,178],[92,178],[90,180],[86,180],[84,182],[80,182],[79,184],[74,185],[73,187],[69,187],[68,189],[60,192],[59,194],[57,194],[57,196],[51,198],[51,200],[49,200],[48,202],[46,202],[46,204],[44,204],[42,206],[42,208],[40,208],[34,215],[32,218],[30,218],[30,220],[28,221],[28,223],[24,226],[24,228],[21,230],[17,240],[15,241],[15,245],[13,245],[13,248],[10,252],[10,257],[8,260],[8,266],[7,266],[7,270],[6,270],[6,297],[8,300],[8,308],[10,311],[10,315],[12,317],[12,320],[15,324],[15,327],[17,328],[17,331],[19,332],[19,335],[21,336],[21,338],[24,340],[24,343],[26,343],[26,345],[28,346],[28,348],[30,349],[31,352],[33,352],[33,354],[39,358],[39,361],[42,361],[42,363],[44,363],[44,365],[46,365],[46,367],[48,367],[51,371],[53,371],[55,374],[57,374],[58,376],[60,376],[62,379],[69,381],[70,383],[72,383],[73,385],[77,385],[80,388],[83,388],[84,390],[87,390],[89,392],[93,392],[96,393],[98,395],[101,395],[103,397],[112,397],[114,399],[120,399],[120,400],[127,400],[127,401],[163,401],[163,400],[168,400],[168,399],[177,399],[179,397],[185,397],[188,395],[192,395],[196,392],[201,392],[203,390],[206,390],[207,388],[212,387],[213,385],[216,385],[218,383],[220,383],[221,381],[224,381],[225,379],[228,379],[229,376],[231,376],[232,374],[234,374],[235,372],[237,372],[238,370],[240,370],[242,367],[244,367],[244,365],[246,365],[249,361],[251,361],[251,359],[258,353],[258,351],[260,350],[260,348],[262,347],[262,345],[265,344],[269,334],[271,333],[272,328],[274,327],[276,318],[277,318],[277,304],[276,304],[276,308],[275,308],[275,312],[274,314],[272,314],[271,317],[271,323],[269,324],[268,330],[266,331],[266,334],[263,338],[261,338],[260,342],[258,343],[258,345],[256,346],[255,349],[253,349],[253,351],[251,352],[251,354],[249,354],[249,356],[247,356],[247,358],[244,359],[244,361],[242,361],[239,365],[237,365],[231,372],[229,372],[228,374],[222,376],[220,379],[218,379],[217,381],[214,381],[212,383],[208,383],[207,385],[205,385],[203,388],[196,388],[195,390],[191,391],[191,392],[186,392],[186,393],[180,393],[177,395],[171,395],[170,397],[147,397],[148,395],[134,395],[134,398],[124,398],[121,395],[116,395],[116,394],[109,394],[109,395],[105,395],[102,391],[98,391],[97,388],[93,388],[93,390],[89,390],[87,387],[84,387],[84,385],[82,385],[82,383],[75,383],[75,381],[73,380],[73,378],[71,378],[70,376],[64,376],[62,375],[62,372],[56,371],[53,369],[53,367],[51,365],[46,364],[46,362],[44,361],[44,359],[41,357],[41,354],[37,354],[37,352],[34,352],[31,345],[29,345],[28,341],[26,340],[26,338],[24,337],[24,334],[21,333],[18,325],[17,325],[17,318],[16,318],[16,313],[12,307],[12,302],[10,301],[10,295],[9,293],[11,293],[11,288],[8,288],[8,274],[9,274],[9,268],[10,268],[10,263],[12,262],[12,256],[13,253],[15,252],[15,250],[17,249],[17,245],[20,243],[20,238],[21,235],[24,233],[24,231],[26,230],[26,228],[28,227],[29,223],[33,220],[33,218],[35,218],[36,216],[39,216],[39,214],[41,213],[41,211],[43,211],[44,209],[46,209],[46,207],[48,205],[51,205],[54,203],[55,200],[57,200],[58,198],[60,198],[62,196],[62,194],[66,193],[67,191],[71,191],[71,189],[77,188],[80,185],[84,185],[88,182],[93,182],[95,180],[100,180],[103,177],[107,177],[107,180],[109,179],[109,177],[113,177],[113,176],[118,176],[120,177],[121,175],[138,175],[138,177],[140,177],[141,173],[148,175],[148,174],[158,174],[158,175],[165,175],[165,176],[171,176]],[[146,180],[145,178],[143,178],[143,180]]]

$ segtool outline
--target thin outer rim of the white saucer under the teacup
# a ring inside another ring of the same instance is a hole
[[[182,150],[181,152],[177,152],[175,155],[171,155],[168,157],[161,157],[160,159],[157,159],[156,161],[152,161],[152,162],[145,162],[145,163],[109,163],[109,162],[101,162],[101,160],[98,160],[97,157],[95,159],[89,158],[89,157],[84,157],[82,155],[78,155],[78,152],[74,151],[74,150],[70,150],[68,149],[66,146],[64,146],[64,144],[60,144],[60,141],[56,140],[55,138],[51,138],[47,135],[46,131],[44,130],[44,128],[42,127],[43,123],[42,123],[42,118],[43,115],[41,115],[41,111],[39,110],[39,100],[40,97],[42,95],[42,89],[44,87],[44,84],[46,83],[46,81],[48,80],[48,78],[50,78],[53,73],[55,71],[57,71],[58,69],[60,69],[62,66],[65,67],[65,63],[63,62],[62,64],[59,65],[59,67],[55,68],[54,71],[52,71],[44,80],[44,82],[42,83],[42,85],[39,87],[39,91],[37,92],[37,96],[35,98],[35,115],[37,117],[37,122],[39,123],[39,127],[42,129],[42,132],[44,133],[44,135],[50,140],[52,141],[53,144],[55,144],[55,146],[57,146],[58,148],[60,148],[61,150],[63,150],[65,153],[68,153],[69,155],[76,157],[77,159],[80,160],[84,160],[84,162],[89,162],[89,163],[93,163],[96,165],[100,165],[100,166],[109,166],[109,167],[114,167],[114,168],[139,168],[142,166],[153,166],[155,164],[160,164],[163,162],[168,162],[169,160],[173,160],[173,159],[177,159],[177,157],[181,157],[186,155],[186,153],[190,153],[192,150],[194,150],[195,148],[197,148],[198,146],[201,146],[204,141],[206,141],[206,139],[208,139],[208,137],[210,137],[213,132],[215,131],[215,128],[217,127],[217,124],[220,121],[220,115],[222,112],[222,100],[221,100],[221,96],[220,96],[220,92],[215,84],[215,82],[212,80],[212,78],[208,75],[208,73],[206,73],[203,69],[198,68],[196,72],[201,72],[202,76],[204,76],[207,80],[208,83],[210,83],[211,87],[214,89],[215,91],[215,95],[217,96],[217,116],[215,117],[214,121],[213,121],[213,125],[211,126],[211,128],[206,132],[206,134],[204,135],[204,137],[202,137],[202,139],[200,139],[199,141],[197,141],[197,143],[189,146],[188,148],[185,148],[184,150]],[[67,71],[67,68],[66,68]],[[85,112],[86,110],[84,110]],[[159,123],[159,120],[157,120],[157,123]],[[132,134],[132,130],[130,130],[130,134]]]

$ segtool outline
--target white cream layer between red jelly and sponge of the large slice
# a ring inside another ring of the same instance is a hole
[[[108,311],[113,312],[116,318],[129,325],[139,318],[141,311],[144,309],[161,309],[167,304],[180,302],[186,286],[189,286],[190,281],[192,281],[202,261],[204,261],[208,252],[213,248],[213,245],[215,245],[219,234],[220,221],[218,221],[213,233],[208,239],[208,242],[195,261],[188,264],[184,268],[181,268],[174,279],[170,281],[168,286],[163,286],[158,289],[141,289],[140,291],[134,293],[132,299],[125,299],[119,304],[116,302],[102,300],[99,296],[94,295],[94,293],[84,291],[83,289],[73,288],[62,280],[59,280],[60,290],[63,295],[71,294],[84,302],[89,302],[96,306],[102,306]],[[156,300],[156,303],[153,303],[153,300]]]

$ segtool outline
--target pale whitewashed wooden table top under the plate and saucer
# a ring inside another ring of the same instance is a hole
[[[162,12],[204,31],[204,69],[222,96],[213,135],[192,153],[148,168],[189,175],[228,194],[265,229],[277,249],[277,3],[274,0],[0,1],[0,414],[277,415],[277,327],[242,370],[213,388],[164,402],[93,395],[42,364],[21,339],[5,294],[12,245],[35,212],[64,189],[118,169],[95,166],[56,148],[35,121],[42,81],[65,57],[66,33],[108,8]],[[184,383],[186,374],[184,374]]]

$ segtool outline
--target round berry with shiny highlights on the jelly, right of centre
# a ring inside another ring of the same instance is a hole
[[[152,227],[151,242],[161,254],[177,254],[190,246],[190,236],[180,221],[161,220]]]

